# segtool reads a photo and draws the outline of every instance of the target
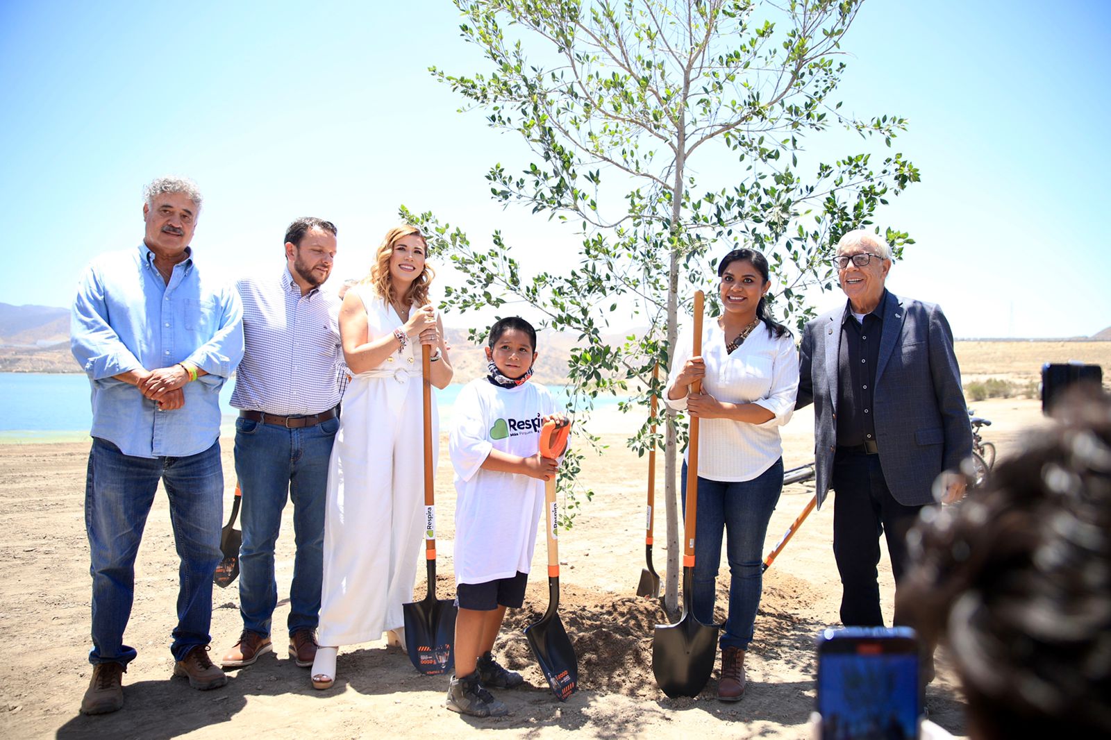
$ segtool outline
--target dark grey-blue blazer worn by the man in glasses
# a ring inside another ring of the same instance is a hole
[[[795,408],[814,404],[818,506],[829,491],[837,452],[838,352],[844,306],[807,324]],[[933,303],[888,293],[875,368],[875,442],[888,489],[904,506],[934,501],[943,470],[972,454],[953,333]]]

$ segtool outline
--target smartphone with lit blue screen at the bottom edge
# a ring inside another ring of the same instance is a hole
[[[918,738],[918,636],[909,627],[847,627],[818,636],[823,740]]]

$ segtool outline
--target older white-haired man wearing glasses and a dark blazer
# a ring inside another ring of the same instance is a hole
[[[964,494],[957,471],[972,453],[972,431],[949,322],[937,306],[884,288],[887,241],[850,231],[832,262],[849,300],[805,327],[797,408],[814,404],[819,508],[830,488],[837,493],[841,621],[882,627],[879,534],[898,588],[919,511]]]

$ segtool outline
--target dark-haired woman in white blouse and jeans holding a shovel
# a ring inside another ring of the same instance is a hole
[[[721,633],[718,698],[744,693],[744,653],[762,589],[768,520],[783,489],[779,428],[794,409],[799,356],[791,333],[767,313],[768,260],[734,249],[718,263],[722,313],[702,330],[702,354],[691,357],[688,328],[674,349],[664,401],[700,419],[698,522],[694,540],[694,616],[713,622],[714,580],[725,532],[729,617]],[[701,393],[688,386],[702,381]],[[683,461],[683,506],[687,461]]]

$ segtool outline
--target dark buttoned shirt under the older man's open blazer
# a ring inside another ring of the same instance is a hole
[[[880,334],[883,331],[883,307],[887,290],[879,304],[864,320],[857,321],[852,304],[847,303],[841,319],[841,348],[838,351],[837,443],[855,447],[875,440],[874,393],[875,364],[880,359]]]

